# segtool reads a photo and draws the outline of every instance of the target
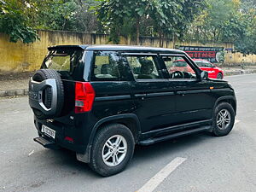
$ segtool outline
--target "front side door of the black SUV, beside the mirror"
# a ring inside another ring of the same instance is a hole
[[[175,89],[175,124],[202,122],[210,123],[212,118],[212,84],[201,80],[200,69],[186,55],[161,55],[162,61],[168,67],[177,60],[186,61],[189,72],[177,71],[169,73],[170,88]]]

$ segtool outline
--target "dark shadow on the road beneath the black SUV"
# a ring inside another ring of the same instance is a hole
[[[141,164],[145,164],[152,160],[157,160],[159,157],[164,158],[168,155],[179,154],[183,150],[187,150],[188,148],[194,148],[198,144],[202,144],[207,142],[206,140],[213,139],[214,137],[210,136],[207,133],[202,134],[194,134],[186,137],[179,137],[177,139],[168,140],[161,143],[155,143],[149,146],[136,146],[134,156],[129,169],[132,166],[139,166]],[[65,148],[61,148],[59,150],[51,150],[45,149],[42,154],[40,154],[40,160],[49,160],[49,156],[51,159],[55,159],[54,167],[56,166],[60,171],[67,172],[70,171],[67,175],[79,175],[85,177],[94,177],[94,178],[102,178],[93,172],[90,167],[76,160],[76,154],[72,151],[69,151]],[[177,155],[176,155],[177,157]],[[127,172],[126,171],[126,172]]]

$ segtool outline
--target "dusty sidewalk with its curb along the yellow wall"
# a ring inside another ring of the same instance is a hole
[[[245,67],[222,67],[224,76],[256,73],[256,66]],[[0,74],[0,97],[3,96],[26,96],[28,94],[28,81],[33,73]]]

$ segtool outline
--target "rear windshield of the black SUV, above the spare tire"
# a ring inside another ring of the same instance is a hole
[[[55,69],[72,74],[82,63],[83,49],[50,49],[42,68]]]

